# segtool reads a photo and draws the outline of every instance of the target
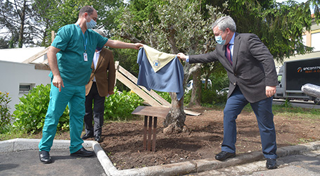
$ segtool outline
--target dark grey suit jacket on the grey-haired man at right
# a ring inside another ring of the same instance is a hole
[[[225,56],[226,45],[217,44],[215,51],[189,56],[189,63],[222,63],[229,77],[229,96],[236,85],[250,103],[267,99],[266,86],[276,86],[276,68],[269,49],[255,34],[236,33],[233,45],[233,65]]]

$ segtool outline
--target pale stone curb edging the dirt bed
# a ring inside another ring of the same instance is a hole
[[[23,150],[38,149],[40,139],[10,139],[0,142],[0,152],[12,152]],[[68,149],[70,140],[53,140],[51,149]],[[206,158],[196,161],[186,161],[182,163],[172,163],[167,165],[155,165],[145,168],[134,168],[128,170],[117,170],[110,158],[105,154],[102,147],[98,142],[84,141],[84,148],[92,146],[98,161],[101,163],[106,175],[130,175],[130,176],[143,176],[143,175],[186,175],[194,172],[204,172],[207,170],[216,170],[219,168],[226,168],[232,165],[241,165],[251,163],[254,161],[264,160],[261,151],[254,151],[252,153],[243,153],[236,156],[236,158],[228,159],[227,161],[217,161],[215,158]],[[307,144],[300,144],[297,146],[284,146],[277,150],[279,158],[284,156],[296,155],[307,151],[314,151],[320,149],[320,141],[310,142]]]

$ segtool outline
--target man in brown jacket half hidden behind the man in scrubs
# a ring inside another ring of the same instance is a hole
[[[101,30],[95,31],[105,37],[105,34]],[[96,142],[102,142],[101,132],[105,96],[114,94],[113,88],[115,87],[113,52],[105,48],[96,48],[91,68],[90,80],[86,85],[86,113],[84,115],[86,134],[82,136],[82,139],[94,137]],[[94,101],[93,111],[92,101]],[[92,125],[93,119],[94,126]]]

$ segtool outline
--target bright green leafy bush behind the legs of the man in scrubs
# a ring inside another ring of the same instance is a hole
[[[44,127],[44,118],[50,101],[50,84],[34,87],[29,94],[20,98],[20,103],[15,105],[13,125],[23,132],[37,133]],[[68,107],[60,117],[57,130],[69,130]]]

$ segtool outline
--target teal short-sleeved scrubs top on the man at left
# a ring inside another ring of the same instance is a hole
[[[103,47],[108,38],[93,30],[82,30],[76,25],[65,25],[58,30],[51,46],[60,51],[57,54],[58,68],[63,82],[82,86],[89,82],[91,64],[96,47]],[[87,43],[87,44],[86,44]],[[87,61],[84,61],[84,44],[87,49]],[[52,72],[49,77],[53,78]]]

